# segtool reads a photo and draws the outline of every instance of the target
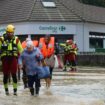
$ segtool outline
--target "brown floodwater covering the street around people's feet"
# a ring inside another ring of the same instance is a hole
[[[31,96],[28,89],[19,82],[18,96],[6,96],[0,76],[0,105],[105,105],[105,69],[78,67],[78,73],[54,70],[50,89],[42,80],[39,97]]]

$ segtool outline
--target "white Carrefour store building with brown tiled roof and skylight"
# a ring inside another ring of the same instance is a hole
[[[51,34],[58,42],[72,38],[80,52],[105,48],[105,8],[78,0],[0,0],[0,35],[10,23],[22,41]]]

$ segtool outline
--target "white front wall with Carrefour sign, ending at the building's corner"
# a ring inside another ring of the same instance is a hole
[[[83,51],[83,26],[80,23],[73,22],[21,22],[14,23],[15,35],[30,35],[30,34],[59,34],[59,35],[74,35],[74,40],[77,42],[80,51]],[[6,25],[0,27],[0,35],[5,32]],[[63,29],[61,29],[63,28]]]

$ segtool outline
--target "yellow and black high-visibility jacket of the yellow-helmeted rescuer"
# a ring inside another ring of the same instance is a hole
[[[18,53],[22,53],[23,48],[18,37],[14,36],[11,40],[5,39],[4,37],[0,37],[0,50],[1,57],[4,56],[18,57]]]

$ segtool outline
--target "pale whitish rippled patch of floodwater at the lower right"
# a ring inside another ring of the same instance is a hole
[[[68,85],[59,87],[53,86],[52,91],[54,94],[71,96],[74,98],[105,99],[105,85],[102,84]]]

